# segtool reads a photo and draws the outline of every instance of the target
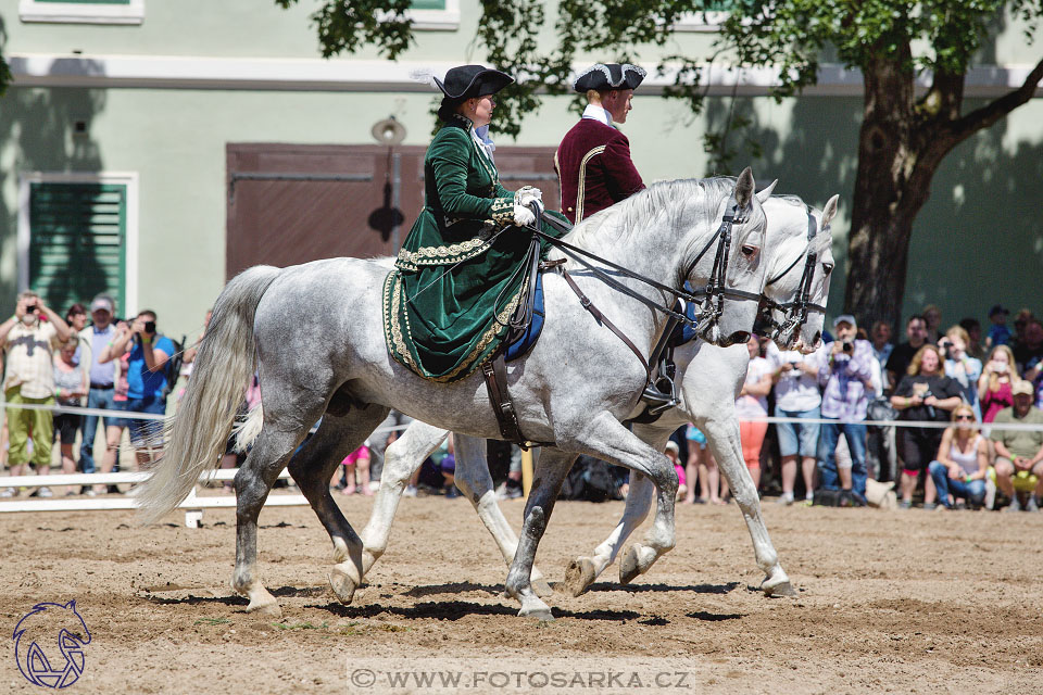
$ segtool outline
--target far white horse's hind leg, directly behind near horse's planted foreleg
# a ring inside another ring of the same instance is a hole
[[[463,434],[453,434],[453,445],[456,450],[456,473],[454,479],[460,491],[470,500],[470,504],[478,513],[478,518],[486,525],[492,534],[503,560],[510,566],[518,549],[518,536],[507,523],[503,511],[497,504],[497,493],[489,475],[489,465],[486,460],[486,440]],[[537,596],[550,596],[554,592],[546,583],[543,574],[536,567],[532,568],[532,591]]]

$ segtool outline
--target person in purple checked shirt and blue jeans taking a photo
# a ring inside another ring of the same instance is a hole
[[[821,353],[818,382],[824,387],[818,440],[818,471],[824,490],[843,490],[856,505],[866,503],[866,406],[872,384],[872,361],[876,355],[868,340],[855,340],[858,329],[855,317],[838,316],[833,321],[837,340]],[[847,440],[851,467],[838,466],[837,442],[840,434]]]

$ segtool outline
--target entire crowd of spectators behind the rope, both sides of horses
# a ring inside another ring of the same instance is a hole
[[[905,340],[897,343],[887,323],[876,321],[867,331],[853,316],[843,315],[832,321],[824,344],[808,355],[752,338],[736,412],[743,458],[758,489],[777,492],[782,504],[802,498],[805,504],[860,506],[867,502],[869,480],[893,480],[902,508],[917,502],[926,509],[993,508],[1006,503],[1009,510],[1038,510],[1043,497],[1043,323],[1022,309],[1008,327],[1009,314],[1003,306],[992,307],[983,334],[973,318],[943,329],[941,311],[927,306],[906,320]],[[104,417],[105,448],[98,466],[99,418],[49,409],[86,405],[165,413],[181,366],[176,358],[180,346],[158,330],[154,312],[143,311],[127,320],[116,316],[115,302],[104,294],[93,299],[89,311],[74,304],[64,317],[34,292],[18,295],[14,316],[0,324],[7,402],[30,406],[10,408],[0,434],[0,455],[11,475],[27,472],[30,466],[47,473],[54,444],[63,472],[114,470],[125,429],[139,465],[152,455],[156,442],[150,441],[154,426],[148,420]],[[185,377],[190,377],[194,354],[194,344],[185,351],[180,372]],[[244,407],[259,400],[257,391],[254,380],[244,394]],[[769,414],[787,421],[769,425],[763,419]],[[909,426],[867,427],[867,419],[881,417]],[[385,425],[407,421],[392,413]],[[332,484],[344,494],[372,494],[384,452],[395,435],[380,432],[352,452]],[[505,451],[499,494],[517,497],[520,452]],[[703,432],[691,425],[681,428],[667,455],[681,479],[680,502],[727,504],[727,482]],[[225,458],[223,466],[237,463],[230,445]],[[406,494],[427,490],[455,496],[454,468],[450,439],[414,475]],[[581,458],[565,494],[621,498],[626,482],[626,471]],[[120,489],[83,486],[78,492]],[[0,488],[0,496],[16,494],[13,488]],[[40,486],[33,494],[53,493]]]

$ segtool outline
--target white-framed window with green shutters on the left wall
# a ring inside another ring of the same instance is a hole
[[[18,204],[18,289],[59,314],[108,292],[116,311],[136,301],[137,177],[32,174]]]

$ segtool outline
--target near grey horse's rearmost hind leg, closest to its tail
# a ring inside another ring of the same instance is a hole
[[[236,473],[236,569],[231,587],[250,599],[248,612],[259,611],[276,618],[282,615],[279,603],[257,576],[257,516],[286,459],[305,432],[263,429]]]

